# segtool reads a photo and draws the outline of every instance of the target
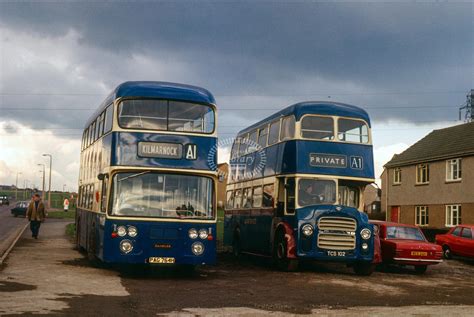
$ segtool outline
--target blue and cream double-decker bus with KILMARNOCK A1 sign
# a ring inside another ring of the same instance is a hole
[[[106,263],[215,263],[216,143],[209,91],[119,85],[84,130],[77,246]]]

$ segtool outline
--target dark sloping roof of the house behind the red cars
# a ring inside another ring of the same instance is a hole
[[[400,154],[385,167],[413,165],[474,155],[474,122],[434,130]]]

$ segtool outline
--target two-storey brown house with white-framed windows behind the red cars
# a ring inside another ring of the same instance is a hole
[[[434,130],[384,166],[387,220],[446,229],[474,223],[474,122]]]

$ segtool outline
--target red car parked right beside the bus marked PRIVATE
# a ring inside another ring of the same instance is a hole
[[[420,228],[394,222],[371,221],[377,227],[383,264],[413,265],[419,274],[443,262],[443,250],[428,242]]]

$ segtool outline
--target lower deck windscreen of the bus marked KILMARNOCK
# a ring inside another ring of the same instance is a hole
[[[128,217],[212,219],[211,178],[154,172],[113,177],[111,214]]]

